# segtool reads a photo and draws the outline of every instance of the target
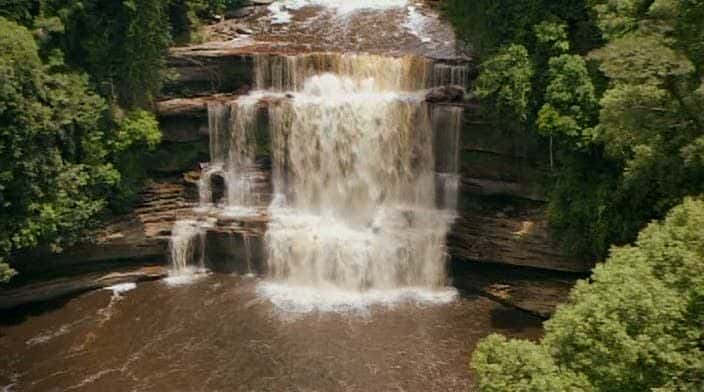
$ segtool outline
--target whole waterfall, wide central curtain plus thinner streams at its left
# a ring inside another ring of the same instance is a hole
[[[260,293],[294,311],[451,299],[445,239],[462,109],[425,96],[465,86],[466,68],[412,56],[257,55],[254,80],[250,94],[208,104],[200,218],[174,226],[174,271],[192,270],[185,258],[202,265],[204,233],[218,219],[263,213],[252,168],[265,108],[273,196]]]

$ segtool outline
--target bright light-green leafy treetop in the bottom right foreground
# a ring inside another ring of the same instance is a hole
[[[686,199],[614,248],[545,323],[540,344],[493,335],[472,365],[483,391],[704,388],[704,201]]]

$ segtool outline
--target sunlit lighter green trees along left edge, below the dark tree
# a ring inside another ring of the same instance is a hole
[[[0,258],[78,239],[131,179],[121,157],[159,139],[152,114],[116,118],[86,75],[52,72],[30,31],[0,17]]]

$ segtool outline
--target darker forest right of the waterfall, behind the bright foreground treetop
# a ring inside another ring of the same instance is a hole
[[[568,251],[601,259],[704,192],[704,2],[445,4],[483,59],[474,92],[490,116],[549,139]]]

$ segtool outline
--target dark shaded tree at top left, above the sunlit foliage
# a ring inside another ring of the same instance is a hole
[[[53,0],[66,26],[69,62],[88,72],[99,91],[128,108],[149,106],[166,77],[171,43],[168,2],[84,0],[68,7]]]

